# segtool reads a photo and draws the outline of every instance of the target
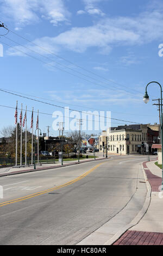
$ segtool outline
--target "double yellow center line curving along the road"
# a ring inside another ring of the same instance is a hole
[[[45,193],[48,193],[48,192],[51,192],[51,191],[54,191],[54,190],[58,190],[59,188],[61,187],[66,187],[68,185],[71,185],[73,184],[74,182],[77,182],[78,180],[80,179],[83,179],[86,175],[88,175],[89,173],[91,173],[93,170],[97,169],[99,166],[101,166],[101,164],[103,164],[105,162],[102,162],[102,163],[99,163],[97,164],[97,166],[93,167],[92,169],[88,170],[86,173],[84,173],[83,175],[80,175],[78,178],[74,179],[74,180],[71,180],[69,182],[66,182],[65,184],[62,184],[62,185],[59,185],[57,187],[52,187],[52,188],[48,188],[48,190],[43,190],[43,191],[40,191],[40,192],[37,192],[37,193],[34,193],[34,194],[29,194],[28,196],[25,196],[25,197],[20,197],[20,198],[16,198],[16,199],[12,199],[10,201],[6,201],[6,202],[3,202],[3,203],[0,203],[0,207],[1,206],[4,206],[4,205],[8,205],[8,204],[13,204],[13,203],[16,203],[16,202],[20,202],[22,200],[26,200],[26,199],[29,199],[29,198],[33,198],[33,197],[36,197],[36,196],[40,196],[41,194],[45,194]]]

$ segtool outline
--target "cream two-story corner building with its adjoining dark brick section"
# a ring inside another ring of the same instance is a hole
[[[156,125],[150,124],[111,127],[99,136],[99,152],[103,152],[104,148],[106,151],[107,148],[110,154],[142,154],[146,151],[146,143],[151,152],[152,142],[158,143],[159,131],[157,130]]]

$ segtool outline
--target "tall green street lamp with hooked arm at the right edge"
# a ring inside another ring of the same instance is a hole
[[[156,83],[160,86],[160,90],[161,90],[161,148],[163,146],[163,122],[162,122],[162,87],[161,87],[161,84],[158,83],[158,82],[150,82],[147,84],[146,86],[146,92],[145,92],[145,96],[143,97],[143,101],[147,104],[148,101],[149,101],[149,96],[148,96],[148,93],[147,93],[147,87],[149,86],[149,84],[151,83]],[[163,148],[162,148],[163,149]],[[161,149],[161,151],[162,151]],[[148,149],[149,150],[149,149]],[[162,154],[162,184],[161,184],[161,191],[163,191],[163,154]]]

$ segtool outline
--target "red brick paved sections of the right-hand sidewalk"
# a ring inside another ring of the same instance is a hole
[[[151,184],[152,192],[159,192],[162,179],[154,175],[146,163],[143,162],[143,168]],[[163,233],[127,230],[113,245],[163,245]]]

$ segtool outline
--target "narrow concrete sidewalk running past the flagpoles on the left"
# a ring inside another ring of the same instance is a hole
[[[27,172],[36,172],[39,170],[46,170],[46,169],[53,169],[53,168],[60,168],[60,167],[65,167],[65,166],[71,166],[74,164],[80,164],[84,162],[92,162],[92,161],[98,161],[98,160],[104,160],[104,159],[110,159],[111,157],[103,157],[103,156],[98,156],[95,159],[85,159],[85,160],[80,160],[78,162],[77,160],[74,161],[63,161],[63,165],[61,165],[58,161],[55,163],[43,163],[43,164],[36,164],[36,169],[34,169],[34,166],[29,165],[29,166],[24,166],[24,167],[4,167],[0,168],[0,177],[1,176],[8,176],[8,175],[14,175],[14,174],[20,174],[20,173],[27,173]]]

